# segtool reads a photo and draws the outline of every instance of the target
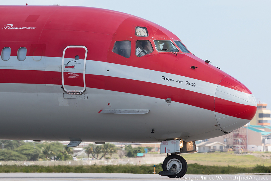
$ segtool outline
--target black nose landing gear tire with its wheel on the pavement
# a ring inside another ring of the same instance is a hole
[[[170,169],[175,169],[176,170],[176,175],[167,175],[169,178],[179,178],[183,177],[187,171],[187,163],[183,157],[177,154],[172,154],[168,157],[163,162],[163,171],[168,171]]]

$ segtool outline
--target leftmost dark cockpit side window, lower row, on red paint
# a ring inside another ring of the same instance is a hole
[[[114,44],[113,50],[120,56],[129,58],[131,56],[131,42],[130,41],[117,41]]]

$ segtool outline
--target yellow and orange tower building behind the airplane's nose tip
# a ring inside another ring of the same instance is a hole
[[[250,125],[262,125],[269,126],[270,123],[268,121],[271,120],[270,114],[271,111],[266,109],[266,103],[257,104],[257,111],[254,118],[250,121]]]

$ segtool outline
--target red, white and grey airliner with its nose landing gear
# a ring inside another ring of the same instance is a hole
[[[245,85],[130,14],[1,6],[0,40],[0,139],[163,141],[172,154],[161,175],[176,177],[187,170],[176,153],[247,124],[257,109]]]

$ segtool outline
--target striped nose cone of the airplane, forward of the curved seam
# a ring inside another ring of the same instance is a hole
[[[214,108],[220,128],[231,132],[250,122],[256,113],[257,103],[245,85],[228,76],[216,88]]]

